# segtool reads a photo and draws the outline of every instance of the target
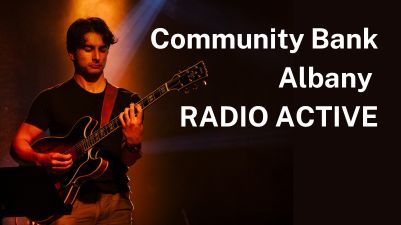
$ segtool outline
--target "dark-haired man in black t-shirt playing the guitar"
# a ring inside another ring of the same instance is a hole
[[[21,161],[67,171],[73,165],[71,154],[37,153],[32,143],[47,129],[52,136],[64,136],[83,116],[100,121],[106,86],[103,69],[115,37],[100,18],[78,19],[67,31],[67,51],[74,64],[72,79],[42,91],[33,101],[28,116],[13,140],[13,154]],[[118,89],[111,118],[119,117],[122,129],[106,137],[99,155],[109,161],[98,179],[86,181],[75,201],[72,214],[54,224],[131,224],[128,166],[140,158],[142,108],[138,96]]]

